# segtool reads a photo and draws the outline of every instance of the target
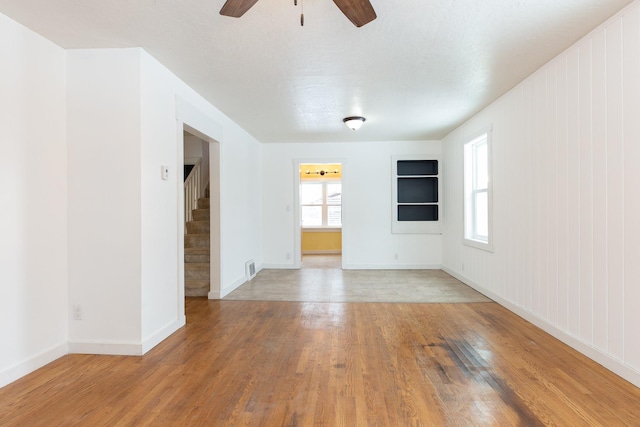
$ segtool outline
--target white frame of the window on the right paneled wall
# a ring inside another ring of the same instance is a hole
[[[491,128],[468,138],[463,146],[463,174],[464,174],[464,244],[478,249],[493,252],[493,188],[491,162]],[[486,146],[486,187],[478,182],[478,148]],[[478,196],[486,194],[487,200],[487,235],[478,231]]]

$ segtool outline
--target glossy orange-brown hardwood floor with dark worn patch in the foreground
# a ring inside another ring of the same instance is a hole
[[[68,355],[2,426],[640,425],[640,390],[495,303],[188,299],[143,357]]]

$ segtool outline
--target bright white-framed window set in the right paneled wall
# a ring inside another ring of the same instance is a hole
[[[491,250],[491,156],[489,132],[464,145],[465,243]]]

